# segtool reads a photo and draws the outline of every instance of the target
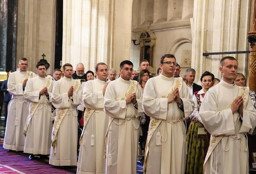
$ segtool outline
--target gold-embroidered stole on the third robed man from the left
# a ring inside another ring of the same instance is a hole
[[[74,86],[73,93],[74,92],[77,93],[77,90],[79,89],[80,85],[81,85],[80,80],[76,79],[75,82],[74,82],[74,85],[73,85]],[[71,106],[71,99],[69,100],[69,107],[70,106]],[[65,109],[59,109],[57,114],[56,114],[54,124],[53,124],[53,128],[52,128],[52,143],[51,143],[52,147],[56,146],[57,133],[58,133],[59,127],[61,126],[62,120],[64,119],[65,115],[67,114],[67,111],[69,110],[69,107],[67,107]]]

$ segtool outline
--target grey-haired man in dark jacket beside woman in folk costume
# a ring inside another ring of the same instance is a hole
[[[187,79],[187,85],[189,87],[189,94],[193,97],[194,92],[202,89],[200,85],[194,83],[195,80],[195,70],[189,68],[185,71],[185,77]]]

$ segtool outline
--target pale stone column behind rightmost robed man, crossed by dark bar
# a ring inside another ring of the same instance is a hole
[[[250,0],[195,0],[192,20],[192,68],[196,80],[205,71],[221,78],[219,62],[227,55],[203,56],[203,52],[247,50]],[[239,62],[238,71],[248,75],[248,55],[229,54]]]

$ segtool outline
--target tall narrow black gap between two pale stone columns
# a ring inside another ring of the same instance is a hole
[[[62,28],[63,28],[63,0],[57,0],[56,4],[56,37],[54,69],[61,68],[62,61]]]

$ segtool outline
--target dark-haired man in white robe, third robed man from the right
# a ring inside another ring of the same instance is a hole
[[[104,108],[109,118],[107,131],[107,174],[136,174],[141,89],[130,80],[133,63],[120,64],[120,77],[108,84]]]

